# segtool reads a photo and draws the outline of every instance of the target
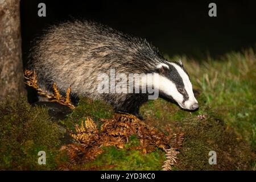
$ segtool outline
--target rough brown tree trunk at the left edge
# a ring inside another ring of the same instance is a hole
[[[0,0],[0,101],[26,94],[19,0]]]

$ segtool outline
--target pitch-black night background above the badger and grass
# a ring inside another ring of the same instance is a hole
[[[46,17],[38,4],[46,3]],[[217,17],[208,16],[210,2]],[[254,1],[35,1],[20,3],[24,67],[31,40],[49,24],[90,19],[146,38],[170,56],[185,54],[202,60],[229,51],[255,47]]]

